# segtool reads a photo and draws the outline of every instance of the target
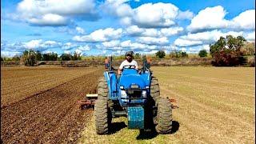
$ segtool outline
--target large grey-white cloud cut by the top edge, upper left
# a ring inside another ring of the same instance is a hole
[[[65,26],[72,17],[87,20],[98,17],[94,0],[23,0],[14,16],[38,26]]]

